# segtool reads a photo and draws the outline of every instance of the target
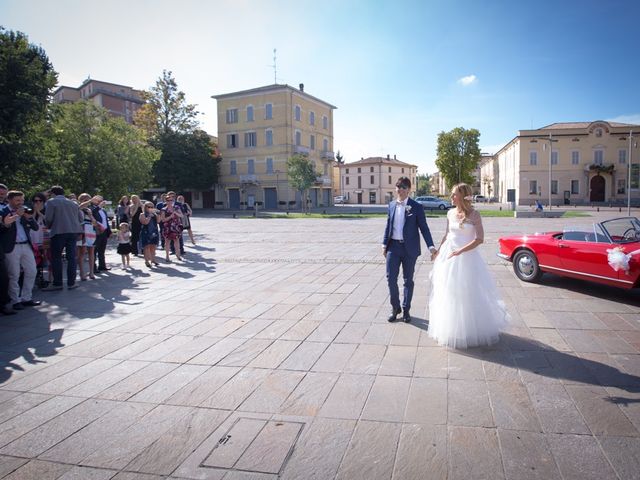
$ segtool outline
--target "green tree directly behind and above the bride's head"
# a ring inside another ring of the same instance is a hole
[[[457,127],[438,134],[436,167],[444,177],[447,189],[464,182],[473,185],[472,172],[480,160],[480,132],[475,128]]]

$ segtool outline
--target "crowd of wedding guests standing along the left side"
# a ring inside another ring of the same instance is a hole
[[[63,289],[63,253],[69,290],[77,287],[78,270],[82,281],[110,270],[105,253],[113,232],[100,195],[65,196],[61,186],[53,186],[33,195],[30,203],[32,207],[26,206],[23,192],[0,184],[0,313],[5,315],[40,304],[32,298],[36,281],[43,291]],[[191,214],[191,207],[175,192],[163,194],[157,205],[143,203],[137,195],[123,197],[115,219],[123,268],[129,267],[131,254],[140,252],[148,267],[158,265],[155,255],[160,241],[166,247],[167,262],[170,249],[181,260],[183,230],[195,244]]]

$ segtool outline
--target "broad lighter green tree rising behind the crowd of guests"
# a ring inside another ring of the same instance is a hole
[[[58,182],[70,192],[118,199],[152,183],[159,152],[143,133],[88,101],[60,106],[53,123]]]

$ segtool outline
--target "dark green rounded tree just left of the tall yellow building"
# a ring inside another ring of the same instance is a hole
[[[220,157],[202,130],[160,135],[160,159],[154,165],[159,185],[170,190],[209,190],[218,180]]]

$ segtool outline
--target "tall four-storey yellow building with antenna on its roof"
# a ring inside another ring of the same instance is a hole
[[[216,205],[299,208],[287,178],[287,159],[306,155],[318,173],[312,207],[333,203],[333,105],[289,85],[214,95],[222,155]]]

